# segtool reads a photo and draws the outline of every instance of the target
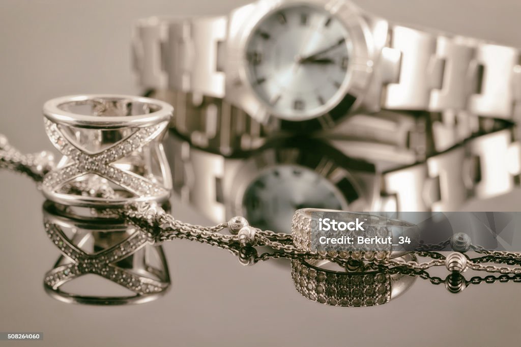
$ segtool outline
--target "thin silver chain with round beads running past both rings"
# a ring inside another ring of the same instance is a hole
[[[27,173],[36,182],[41,182],[43,175],[54,167],[53,157],[47,152],[34,155],[23,155],[15,148],[11,147],[7,139],[0,135],[0,168]],[[81,187],[77,187],[81,189]],[[92,188],[92,187],[88,187]],[[290,259],[328,259],[340,264],[345,268],[350,266],[350,261],[358,262],[361,259],[355,255],[356,252],[311,252],[304,251],[295,246],[292,237],[286,233],[276,233],[269,230],[260,230],[250,227],[243,217],[234,217],[227,223],[221,223],[212,227],[203,227],[183,223],[173,216],[167,214],[155,203],[130,203],[124,208],[111,210],[121,217],[126,218],[134,225],[146,230],[148,240],[154,243],[162,243],[172,239],[188,239],[199,241],[227,249],[235,255],[239,255],[244,264],[255,264],[259,261],[266,261],[270,258],[290,258]],[[221,233],[228,228],[230,234]],[[486,271],[499,272],[503,275],[521,275],[521,267],[506,267],[486,265],[485,263],[500,263],[508,265],[519,265],[521,261],[520,252],[489,251],[481,246],[472,245],[469,240],[461,237],[460,239],[449,239],[436,245],[423,245],[417,252],[420,256],[430,257],[431,260],[423,263],[417,261],[405,261],[404,259],[379,259],[375,257],[369,260],[377,265],[393,266],[396,268],[406,268],[413,271],[426,270],[433,266],[443,266],[455,273],[463,272],[467,268]],[[432,252],[443,250],[451,244],[453,249],[466,251],[472,249],[475,252],[486,254],[485,257],[470,259],[463,253],[454,252],[448,256]],[[273,253],[263,253],[258,255],[253,246],[268,246],[275,250]],[[428,250],[428,251],[427,251]]]

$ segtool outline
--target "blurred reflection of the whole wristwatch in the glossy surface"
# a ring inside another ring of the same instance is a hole
[[[300,207],[451,211],[509,192],[519,183],[521,145],[513,126],[504,126],[416,164],[395,146],[302,138],[233,158],[171,136],[168,155],[174,189],[213,221],[243,215],[256,227],[284,231]],[[386,148],[400,162],[381,165]],[[378,162],[369,160],[375,153]]]

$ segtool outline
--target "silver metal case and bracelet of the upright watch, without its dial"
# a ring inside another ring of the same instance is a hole
[[[301,123],[299,127],[288,127],[288,122],[281,121],[281,115],[255,93],[248,77],[246,51],[259,23],[295,4],[328,11],[348,30],[353,49],[348,67],[349,82],[341,86],[341,95],[309,117],[313,119],[295,119]],[[210,107],[208,125],[219,124],[220,127],[214,126],[217,133],[233,133],[232,125],[244,123],[239,120],[247,118],[246,115],[253,119],[252,129],[264,129],[264,135],[269,136],[281,130],[331,129],[337,127],[345,115],[382,108],[448,113],[443,118],[449,123],[452,114],[464,113],[510,120],[518,118],[516,109],[521,101],[519,49],[436,30],[396,25],[366,13],[349,0],[334,3],[328,0],[260,0],[234,9],[227,16],[154,19],[148,21],[149,27],[150,23],[157,26],[157,33],[168,27],[168,34],[166,37],[163,34],[137,36],[139,44],[135,46],[154,46],[138,50],[136,55],[142,56],[144,63],[138,64],[137,73],[163,71],[168,76],[168,88],[188,93],[194,101],[222,99],[230,107],[245,113],[230,116],[225,110],[223,115],[227,121],[221,122],[220,112],[213,112],[214,107]],[[143,21],[138,27],[143,27]],[[158,54],[158,51],[164,54]],[[150,54],[146,56],[148,52]],[[142,86],[164,89],[164,80],[157,77],[157,72],[148,75],[155,78],[143,82]],[[349,97],[350,102],[341,103],[345,97]],[[339,107],[342,110],[337,115]],[[187,130],[189,135],[201,135],[201,141],[195,139],[199,145],[204,144],[205,139],[215,137],[214,132],[207,132],[208,128],[202,126],[204,123],[182,121],[188,129],[180,124],[175,126],[179,126],[182,133]],[[439,129],[437,132],[440,142],[444,142],[445,135],[440,134]],[[240,134],[234,137],[240,146]],[[237,146],[235,140],[232,149]],[[249,140],[245,138],[245,141],[247,147]],[[215,142],[210,141],[208,145],[215,148]],[[442,147],[448,148],[447,145],[439,148]]]

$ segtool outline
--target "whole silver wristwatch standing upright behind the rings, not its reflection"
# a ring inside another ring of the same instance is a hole
[[[172,100],[178,132],[225,151],[382,108],[513,120],[521,100],[517,48],[397,25],[348,0],[149,18],[133,47],[141,86]]]

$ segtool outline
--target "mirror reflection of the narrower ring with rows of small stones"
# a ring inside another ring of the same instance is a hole
[[[403,256],[415,260],[413,254]],[[412,286],[416,277],[390,274],[382,268],[367,272],[331,270],[328,260],[291,261],[291,277],[296,290],[305,298],[333,306],[383,305]]]

